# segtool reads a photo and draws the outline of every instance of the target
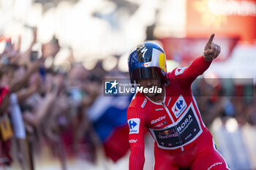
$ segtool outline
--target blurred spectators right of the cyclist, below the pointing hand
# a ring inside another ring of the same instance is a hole
[[[236,79],[199,78],[192,90],[208,128],[217,117],[224,124],[234,117],[239,126],[256,125],[256,90],[252,79],[241,84]]]

